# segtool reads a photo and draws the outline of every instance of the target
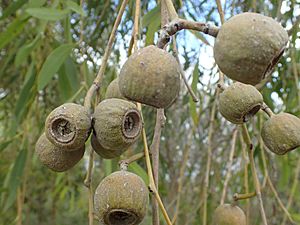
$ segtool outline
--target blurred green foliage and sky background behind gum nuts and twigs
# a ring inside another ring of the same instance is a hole
[[[47,114],[65,102],[83,103],[104,54],[121,1],[116,0],[1,0],[0,1],[0,224],[88,224],[88,190],[83,185],[88,151],[73,169],[54,173],[38,161],[34,145],[43,132]],[[210,21],[220,26],[215,1],[175,0],[183,18]],[[261,85],[265,102],[278,113],[300,116],[300,1],[222,1],[225,18],[241,12],[259,12],[279,21],[289,31],[290,42],[270,79]],[[135,1],[130,0],[118,28],[100,97],[127,58],[133,27]],[[160,28],[160,6],[142,1],[139,46],[153,44]],[[177,44],[181,64],[197,96],[194,103],[184,86],[176,103],[166,110],[167,123],[160,145],[159,190],[176,224],[202,224],[204,192],[207,191],[207,224],[219,205],[228,169],[226,201],[234,193],[245,193],[245,177],[254,191],[245,145],[237,133],[233,163],[228,167],[236,126],[216,110],[218,70],[213,60],[213,38],[181,31]],[[226,83],[232,81],[226,79]],[[149,142],[155,111],[144,107]],[[255,144],[255,160],[263,184],[263,200],[269,224],[292,224],[274,197],[300,224],[300,152],[276,156],[262,144],[260,128],[266,120],[257,114],[248,128]],[[300,132],[300,131],[299,131]],[[210,133],[210,134],[209,134]],[[90,148],[87,142],[86,149]],[[208,149],[212,154],[208,154]],[[143,150],[142,143],[122,158]],[[207,162],[211,160],[209,171]],[[95,158],[93,188],[104,176],[118,169],[118,161]],[[248,166],[249,167],[249,166]],[[144,160],[130,165],[147,181]],[[209,186],[205,188],[205,174]],[[246,202],[239,201],[246,211]],[[249,224],[261,224],[256,198],[250,199]],[[164,224],[161,218],[162,224]],[[96,223],[96,221],[95,221]],[[143,224],[151,224],[151,207]]]

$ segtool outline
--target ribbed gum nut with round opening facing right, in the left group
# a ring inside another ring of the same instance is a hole
[[[124,152],[137,141],[141,130],[141,114],[132,102],[110,98],[97,105],[94,132],[104,148]]]

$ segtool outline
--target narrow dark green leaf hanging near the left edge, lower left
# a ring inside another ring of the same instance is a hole
[[[16,199],[17,190],[22,181],[23,171],[26,163],[26,157],[27,157],[27,149],[21,150],[15,160],[12,171],[9,174],[9,180],[7,185],[9,194],[6,199],[4,211],[10,208]]]

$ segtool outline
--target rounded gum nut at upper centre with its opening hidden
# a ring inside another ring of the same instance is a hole
[[[176,59],[156,46],[147,46],[132,54],[123,65],[119,88],[126,98],[156,108],[167,108],[180,90],[180,72]]]

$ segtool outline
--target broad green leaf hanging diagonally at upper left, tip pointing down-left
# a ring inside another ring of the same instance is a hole
[[[38,90],[42,90],[51,81],[54,74],[70,55],[73,47],[73,44],[64,44],[51,52],[38,75]]]

